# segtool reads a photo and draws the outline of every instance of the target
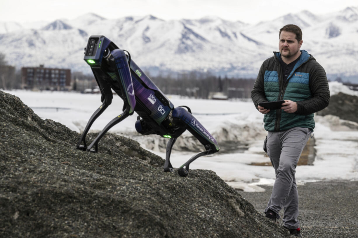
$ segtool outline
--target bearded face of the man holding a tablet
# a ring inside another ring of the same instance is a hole
[[[296,34],[289,31],[281,31],[279,50],[282,57],[293,58],[299,54],[302,40],[296,40]]]

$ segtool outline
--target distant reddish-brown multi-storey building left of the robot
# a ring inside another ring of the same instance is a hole
[[[39,90],[71,90],[71,70],[58,68],[21,68],[21,88]]]

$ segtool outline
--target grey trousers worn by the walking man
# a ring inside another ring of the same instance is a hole
[[[268,132],[267,155],[275,168],[276,180],[272,188],[272,194],[267,203],[268,209],[276,213],[279,219],[279,211],[284,208],[284,226],[289,229],[300,227],[298,217],[298,192],[295,172],[298,159],[305,147],[310,129],[294,127],[283,132]]]

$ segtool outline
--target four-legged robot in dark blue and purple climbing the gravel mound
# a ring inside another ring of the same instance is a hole
[[[142,135],[156,134],[170,138],[166,146],[165,172],[174,171],[170,163],[171,149],[176,138],[185,130],[189,130],[204,145],[205,151],[195,154],[185,162],[178,169],[180,176],[188,175],[189,164],[198,157],[219,151],[219,145],[215,138],[192,115],[190,108],[187,106],[174,108],[168,98],[134,63],[128,51],[119,49],[111,40],[102,35],[90,36],[84,50],[84,60],[91,66],[101,91],[102,105],[89,119],[76,145],[77,149],[98,152],[98,142],[106,132],[135,111],[138,114],[135,123],[137,132]],[[112,103],[112,90],[123,99],[123,112],[112,119],[95,140],[87,146],[88,130],[98,116]],[[94,149],[92,149],[93,147]]]

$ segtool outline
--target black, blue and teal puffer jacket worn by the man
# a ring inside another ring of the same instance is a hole
[[[282,79],[280,52],[265,60],[251,91],[255,107],[263,101],[291,100],[297,103],[295,113],[284,110],[271,110],[265,114],[265,129],[271,132],[288,130],[292,127],[305,127],[313,130],[316,111],[329,104],[328,80],[323,67],[312,55],[301,50],[300,59],[295,64],[287,80]]]

